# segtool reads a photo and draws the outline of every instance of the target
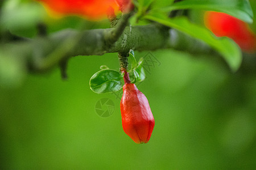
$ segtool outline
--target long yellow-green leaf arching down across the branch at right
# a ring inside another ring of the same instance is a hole
[[[147,15],[144,18],[161,23],[168,27],[175,28],[181,32],[205,41],[212,48],[216,49],[225,61],[228,63],[232,71],[236,71],[242,62],[242,54],[238,45],[226,37],[216,37],[207,28],[193,24],[186,18],[167,18],[165,15],[155,14]]]

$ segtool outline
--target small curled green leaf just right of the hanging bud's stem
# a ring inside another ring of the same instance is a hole
[[[130,77],[133,78],[131,83],[142,82],[146,78],[142,58],[139,60],[137,68],[131,72]]]

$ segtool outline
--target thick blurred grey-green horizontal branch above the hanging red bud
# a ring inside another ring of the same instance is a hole
[[[65,29],[49,36],[0,44],[7,56],[24,58],[30,71],[45,71],[72,56],[102,55],[133,50],[177,49],[190,53],[212,54],[213,49],[174,29],[158,24],[125,27],[113,45],[105,39],[115,28],[75,31]]]

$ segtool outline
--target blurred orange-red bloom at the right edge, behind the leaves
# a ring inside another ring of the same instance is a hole
[[[216,36],[233,39],[244,52],[256,52],[256,35],[242,20],[222,12],[208,11],[204,22]]]

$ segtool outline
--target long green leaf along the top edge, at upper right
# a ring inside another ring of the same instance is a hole
[[[164,11],[201,9],[224,12],[247,23],[253,23],[253,10],[248,0],[184,0],[174,3]]]

